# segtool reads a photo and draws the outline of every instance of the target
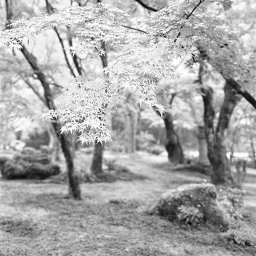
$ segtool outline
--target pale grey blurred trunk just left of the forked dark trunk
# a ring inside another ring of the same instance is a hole
[[[199,163],[201,165],[210,165],[208,159],[207,142],[205,139],[204,126],[198,126],[197,139],[199,144]]]

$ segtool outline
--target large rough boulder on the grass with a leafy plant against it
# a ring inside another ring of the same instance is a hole
[[[212,184],[183,185],[163,193],[151,213],[164,216],[170,221],[187,223],[197,220],[225,231],[229,226],[227,214],[218,205],[216,197],[216,187]]]

